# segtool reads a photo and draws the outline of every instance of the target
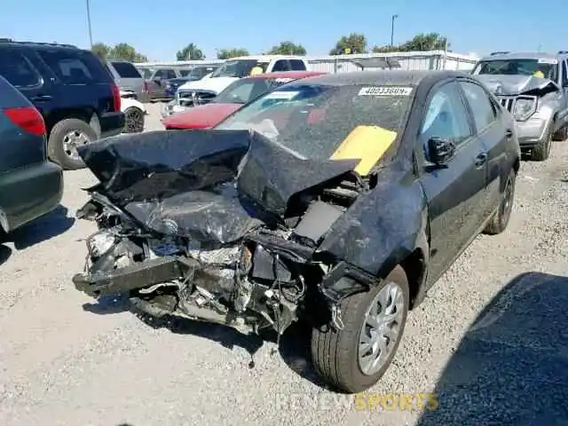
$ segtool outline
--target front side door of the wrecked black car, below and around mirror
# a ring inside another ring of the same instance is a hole
[[[475,238],[482,222],[479,204],[485,198],[486,162],[478,161],[485,147],[475,137],[458,83],[434,86],[424,111],[415,153],[429,205],[431,285]],[[456,145],[446,168],[431,165],[430,138],[450,139]]]

